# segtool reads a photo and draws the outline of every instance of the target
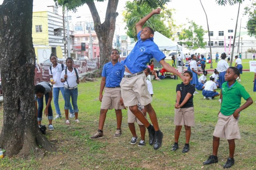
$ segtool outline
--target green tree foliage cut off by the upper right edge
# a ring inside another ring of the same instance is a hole
[[[248,34],[256,37],[256,0],[252,1],[252,4],[244,9],[245,14],[249,16],[246,24]]]

